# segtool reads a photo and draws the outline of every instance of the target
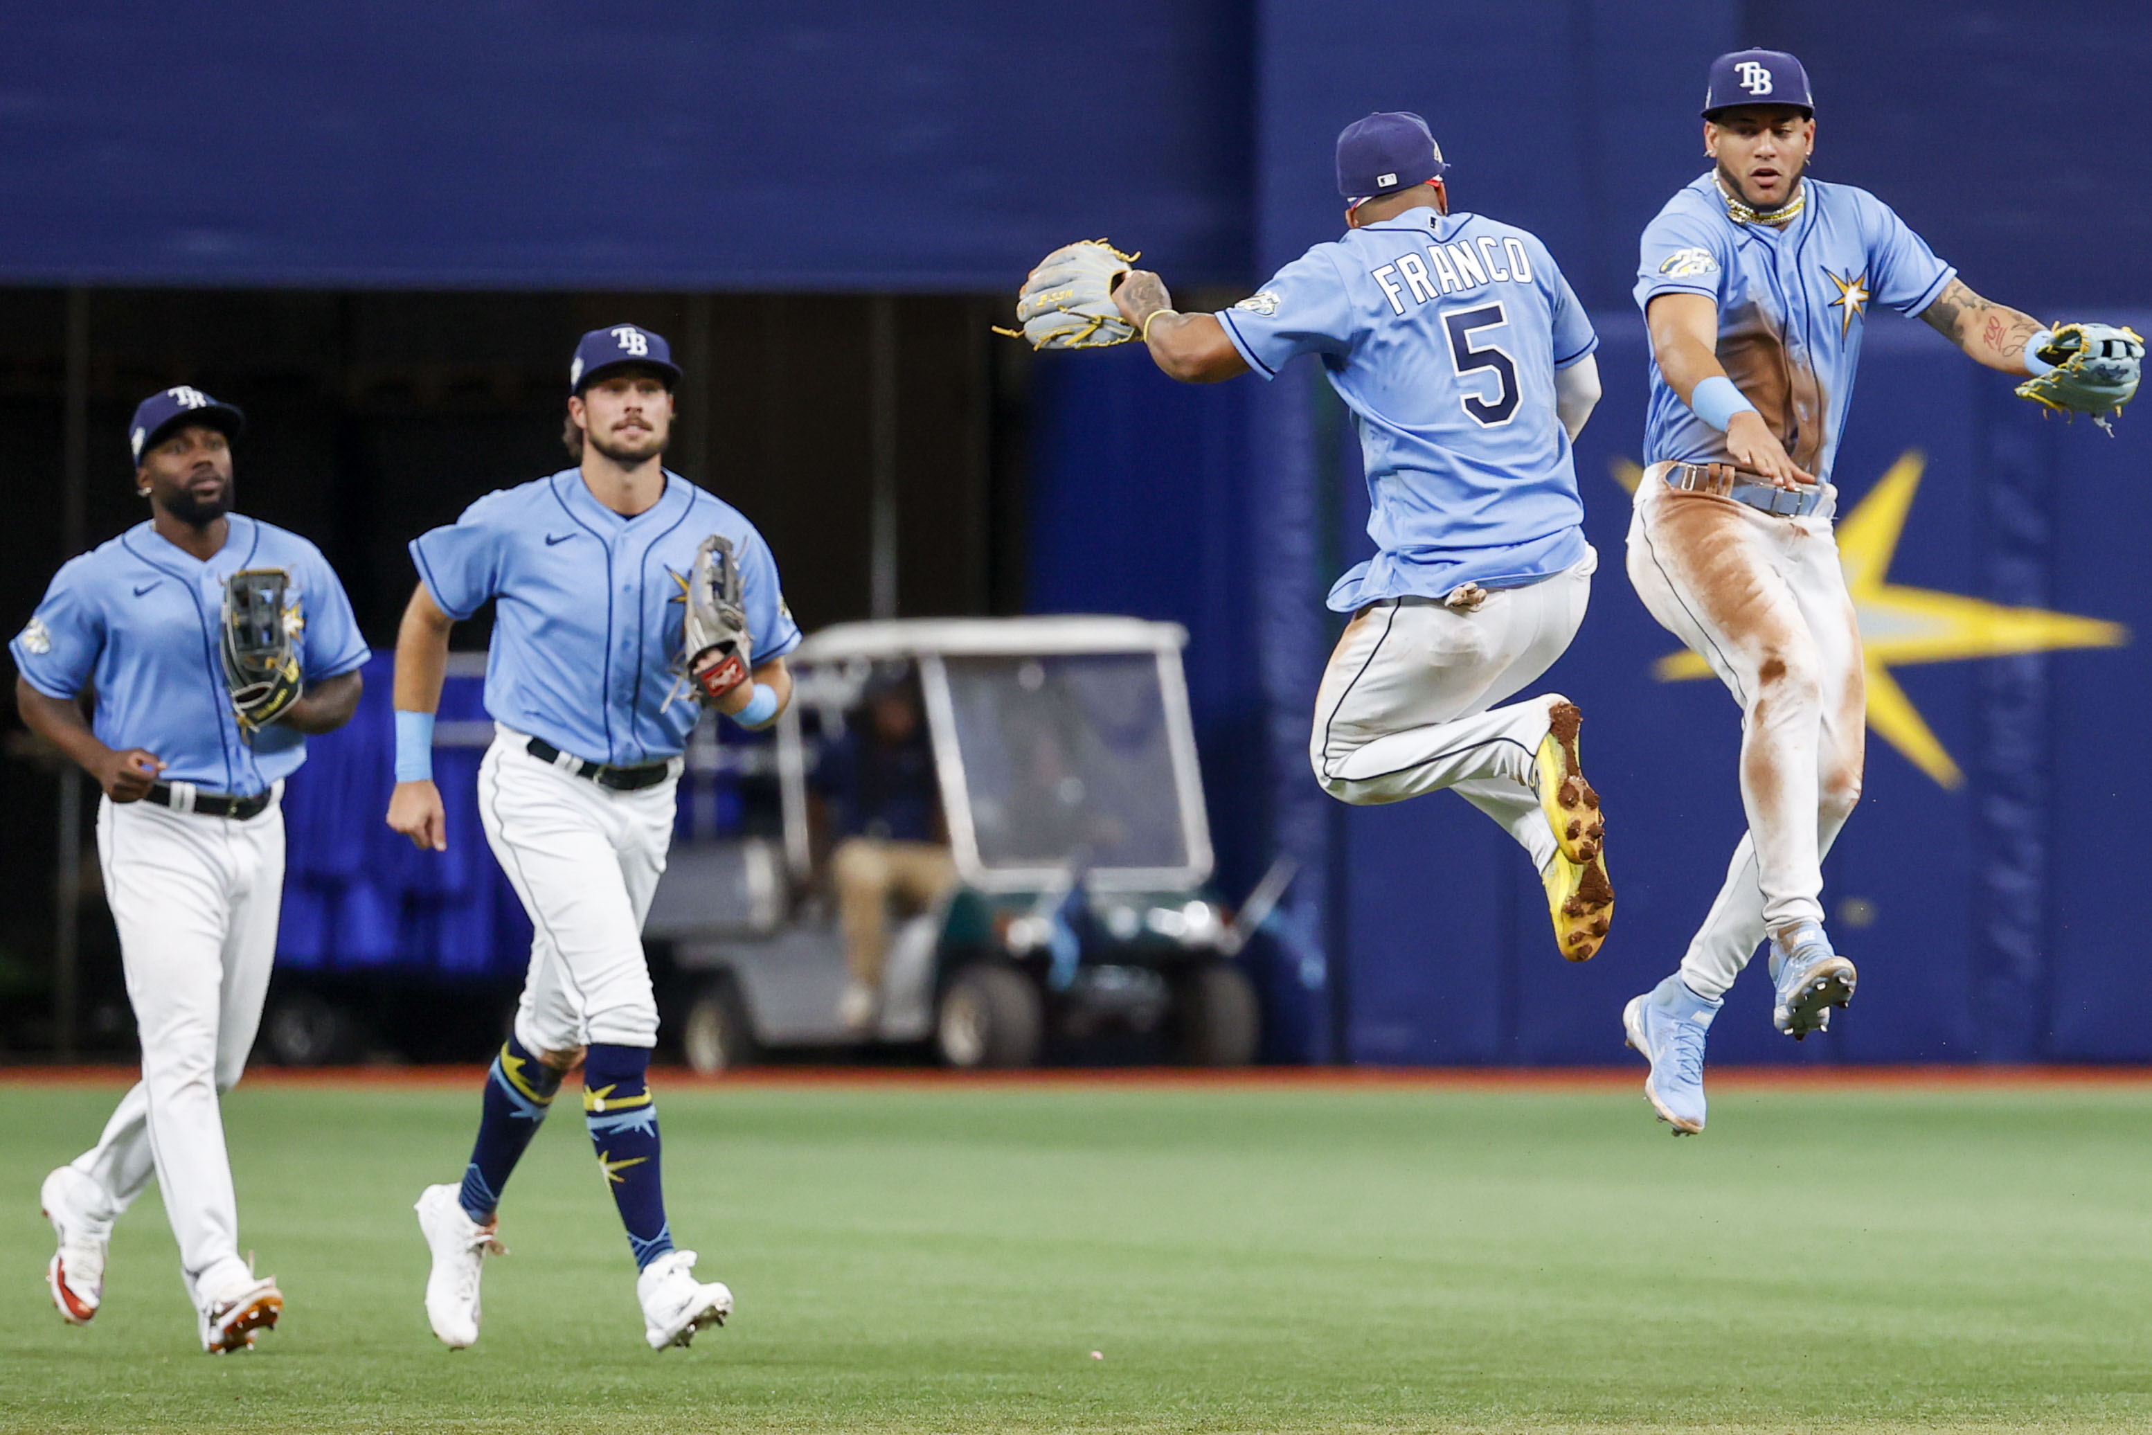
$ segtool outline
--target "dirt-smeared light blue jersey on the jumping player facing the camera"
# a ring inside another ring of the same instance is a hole
[[[1644,228],[1636,301],[1704,295],[1719,306],[1719,364],[1797,465],[1831,478],[1853,402],[1870,303],[1920,314],[1956,273],[1889,204],[1803,179],[1784,230],[1737,224],[1717,174],[1679,189]],[[1651,364],[1644,463],[1724,463],[1726,435],[1696,417]]]

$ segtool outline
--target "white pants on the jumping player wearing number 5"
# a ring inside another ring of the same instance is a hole
[[[1545,673],[1584,622],[1597,553],[1478,611],[1435,598],[1360,609],[1323,669],[1308,762],[1345,802],[1397,802],[1453,787],[1532,854],[1554,861],[1534,753],[1560,693],[1496,708]]]

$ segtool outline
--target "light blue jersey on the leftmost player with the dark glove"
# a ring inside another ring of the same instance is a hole
[[[97,740],[164,759],[164,781],[254,796],[299,770],[306,736],[280,723],[254,734],[252,747],[239,736],[220,645],[224,581],[241,568],[291,574],[284,622],[299,635],[306,682],[366,663],[351,598],[321,549],[245,514],[230,516],[207,564],[148,523],[69,559],[9,652],[45,697],[95,688]]]

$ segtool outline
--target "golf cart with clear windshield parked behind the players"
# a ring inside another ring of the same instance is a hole
[[[781,837],[674,850],[646,923],[699,1071],[768,1048],[932,1043],[953,1067],[1024,1067],[1048,1041],[1158,1033],[1173,1059],[1244,1065],[1255,988],[1233,962],[1289,878],[1237,921],[1207,891],[1179,624],[1134,617],[854,622],[792,652],[775,731]],[[917,676],[953,893],[895,923],[880,1009],[839,1015],[844,934],[809,837],[809,779],[872,682]]]

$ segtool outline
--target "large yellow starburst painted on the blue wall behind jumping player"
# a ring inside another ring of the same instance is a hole
[[[1877,480],[1868,497],[1838,521],[1838,562],[1846,570],[1846,589],[1861,624],[1868,729],[1943,787],[1958,787],[1965,783],[1965,772],[1889,669],[2059,648],[2122,648],[2130,641],[2130,630],[2098,617],[2014,609],[1984,598],[1892,583],[1889,562],[1898,551],[1905,514],[1913,506],[1926,465],[1920,450],[1907,450]],[[1631,493],[1642,478],[1644,469],[1633,463],[1614,465],[1614,480]],[[1681,650],[1653,663],[1653,676],[1659,682],[1685,682],[1709,678],[1711,669],[1694,652]]]

